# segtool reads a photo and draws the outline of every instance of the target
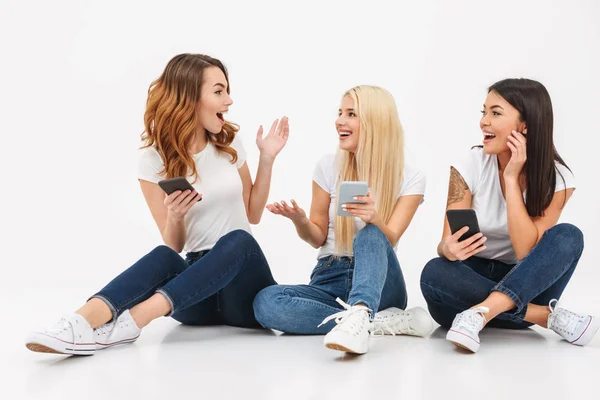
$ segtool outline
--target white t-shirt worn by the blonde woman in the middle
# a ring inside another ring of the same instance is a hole
[[[337,254],[335,251],[335,217],[337,216],[336,208],[336,191],[337,191],[337,177],[339,174],[338,167],[336,166],[336,159],[334,154],[328,154],[321,158],[317,163],[315,171],[313,173],[313,181],[325,190],[331,196],[331,202],[329,203],[329,227],[327,231],[327,240],[319,249],[317,258],[330,256]],[[407,195],[424,195],[425,194],[425,175],[421,171],[404,165],[404,172],[402,176],[402,183],[400,184],[400,192],[398,197]],[[350,217],[348,217],[350,218]],[[365,226],[365,223],[358,217],[354,217],[355,232],[358,232]],[[397,245],[396,245],[397,246]],[[339,254],[340,256],[348,256],[348,254]]]

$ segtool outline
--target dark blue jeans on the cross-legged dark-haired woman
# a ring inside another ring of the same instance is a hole
[[[452,326],[456,314],[485,300],[491,292],[506,294],[515,308],[487,326],[521,329],[527,304],[548,305],[559,299],[583,252],[583,233],[570,224],[548,229],[518,264],[471,257],[464,261],[434,258],[421,274],[421,291],[438,324]]]

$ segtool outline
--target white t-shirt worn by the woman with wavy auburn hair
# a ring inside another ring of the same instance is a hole
[[[237,135],[231,147],[238,154],[235,164],[231,164],[229,154],[217,151],[210,142],[193,156],[199,179],[192,186],[202,194],[202,201],[195,204],[184,218],[186,252],[211,249],[221,236],[236,229],[251,233],[238,173],[246,161],[246,151]],[[154,183],[165,179],[158,174],[164,165],[156,149],[148,147],[141,152],[138,178]],[[194,180],[193,177],[187,179],[190,183]]]

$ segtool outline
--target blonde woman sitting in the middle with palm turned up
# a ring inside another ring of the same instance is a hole
[[[337,157],[323,157],[314,171],[310,217],[291,200],[267,205],[289,218],[300,238],[319,249],[308,285],[271,286],[254,300],[266,328],[295,334],[327,334],[332,349],[363,354],[371,318],[383,333],[424,336],[427,312],[403,311],[406,286],[394,246],[425,193],[425,177],[404,164],[403,132],[396,104],[386,90],[357,86],[342,98],[336,121]],[[366,181],[364,204],[347,203],[353,217],[336,215],[340,182]]]

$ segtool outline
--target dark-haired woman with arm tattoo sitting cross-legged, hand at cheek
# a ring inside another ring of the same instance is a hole
[[[484,326],[548,328],[589,343],[600,322],[558,307],[583,251],[583,234],[558,219],[574,189],[553,143],[550,96],[539,82],[492,85],[483,106],[483,146],[450,169],[447,209],[475,210],[481,233],[459,241],[444,223],[439,258],[421,275],[431,316],[446,338],[472,352]]]

